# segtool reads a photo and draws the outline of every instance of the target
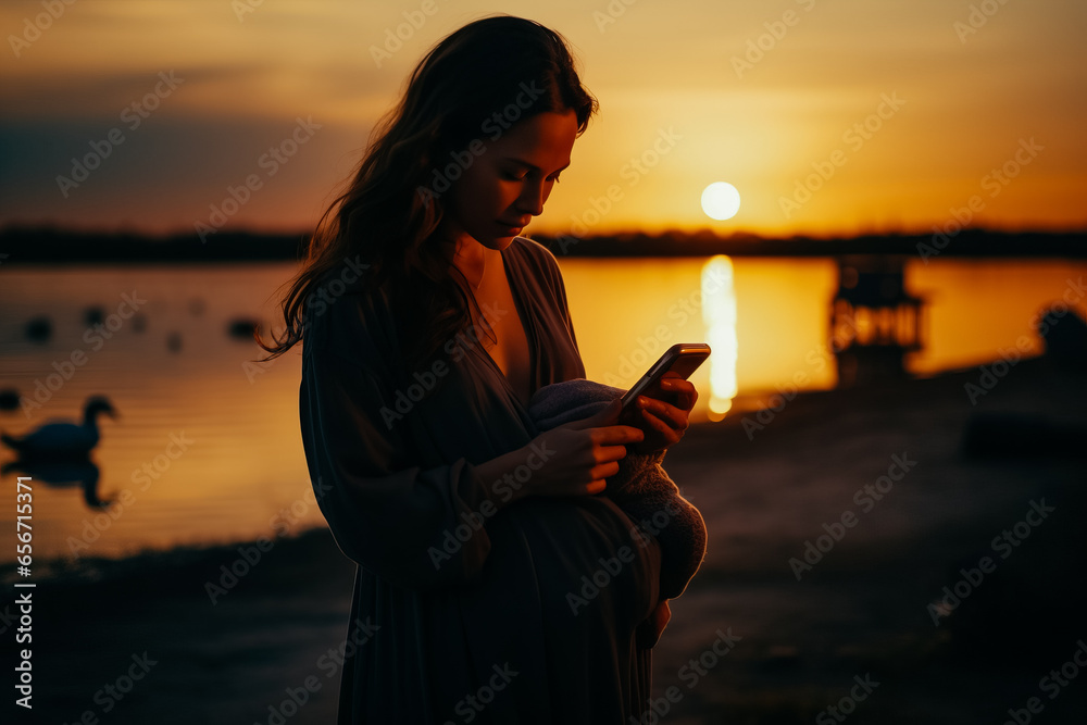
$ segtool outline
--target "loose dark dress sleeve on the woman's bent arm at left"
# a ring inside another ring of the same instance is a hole
[[[483,480],[464,458],[432,467],[413,461],[403,426],[386,425],[382,416],[383,409],[395,410],[385,365],[345,354],[339,342],[333,343],[345,336],[355,341],[351,351],[365,349],[358,343],[365,338],[359,326],[329,330],[315,325],[309,330],[299,391],[310,480],[337,546],[359,565],[404,588],[475,578],[490,539],[484,526],[463,524],[480,521],[476,512],[486,498]]]

